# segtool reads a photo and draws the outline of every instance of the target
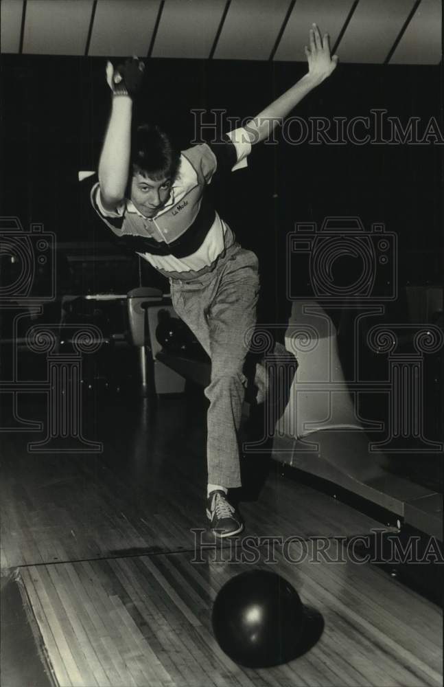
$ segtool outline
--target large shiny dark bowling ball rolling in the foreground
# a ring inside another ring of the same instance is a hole
[[[248,570],[220,589],[211,622],[220,648],[233,661],[249,668],[266,668],[307,651],[303,635],[314,616],[317,633],[319,629],[322,632],[322,616],[306,609],[288,581],[267,570]]]

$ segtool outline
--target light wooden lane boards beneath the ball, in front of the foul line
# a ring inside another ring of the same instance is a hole
[[[230,556],[202,550],[21,568],[60,687],[442,684],[439,608],[350,561],[294,565],[277,554],[272,570],[323,613],[324,633],[284,666],[233,663],[211,631],[215,595],[248,569]],[[256,567],[270,564],[261,556]]]

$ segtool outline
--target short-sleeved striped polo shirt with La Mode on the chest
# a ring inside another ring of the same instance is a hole
[[[214,174],[247,164],[251,145],[244,128],[230,131],[213,144],[200,144],[180,154],[178,174],[170,196],[152,218],[143,216],[130,199],[106,210],[100,185],[91,190],[91,203],[113,232],[117,245],[135,252],[169,279],[194,280],[211,271],[235,235],[215,211],[205,187]]]

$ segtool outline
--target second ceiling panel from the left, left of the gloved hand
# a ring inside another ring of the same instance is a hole
[[[93,0],[28,0],[23,52],[83,55]]]

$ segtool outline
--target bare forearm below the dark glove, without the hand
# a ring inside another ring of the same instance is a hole
[[[110,120],[100,155],[100,196],[112,210],[125,196],[130,171],[132,99],[114,95]]]

